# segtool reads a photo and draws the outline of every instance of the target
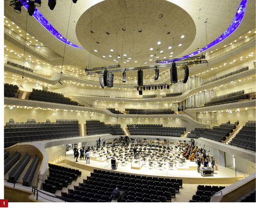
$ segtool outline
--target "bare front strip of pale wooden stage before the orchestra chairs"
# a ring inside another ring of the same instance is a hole
[[[62,158],[62,162],[66,164],[91,172],[93,172],[94,168],[97,168],[128,174],[181,178],[184,184],[233,184],[244,178],[243,174],[235,172],[234,167],[222,166],[218,166],[218,170],[214,171],[213,176],[201,176],[201,174],[197,172],[196,162],[190,162],[189,160],[186,160],[182,165],[177,163],[172,170],[169,169],[168,164],[163,165],[162,168],[157,167],[157,165],[151,168],[149,167],[149,162],[145,162],[140,169],[136,169],[135,167],[139,167],[138,163],[140,162],[142,164],[142,161],[139,161],[137,164],[134,161],[126,164],[118,163],[117,168],[113,170],[111,168],[111,160],[106,161],[104,158],[99,159],[99,155],[96,154],[91,154],[90,164],[87,164],[85,160],[80,160],[80,158],[78,158],[78,162],[76,162],[72,150],[67,151],[66,155],[63,155]],[[49,162],[53,163],[53,161]],[[246,177],[247,176],[248,175],[246,175]]]

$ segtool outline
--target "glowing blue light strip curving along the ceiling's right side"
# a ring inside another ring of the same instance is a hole
[[[207,49],[217,45],[218,43],[223,41],[225,38],[227,38],[231,33],[233,33],[239,27],[239,25],[240,25],[240,23],[242,21],[243,15],[245,15],[246,4],[247,4],[247,0],[242,0],[241,1],[240,5],[239,5],[239,7],[237,9],[235,18],[233,19],[233,21],[229,25],[228,29],[220,37],[218,37],[215,41],[213,41],[212,43],[210,43],[207,46],[203,47],[202,49],[197,50],[194,53],[191,53],[189,55],[182,56],[180,58],[188,58],[188,57],[191,57],[191,56],[194,56],[194,55],[198,55],[200,52],[205,51],[205,50],[207,50]],[[167,61],[166,60],[166,61],[163,61],[163,62],[160,62],[160,63],[168,63],[168,62],[173,62],[173,61],[176,61],[176,60],[175,59],[172,60],[172,61]]]

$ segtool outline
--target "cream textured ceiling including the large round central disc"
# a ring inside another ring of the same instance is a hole
[[[127,35],[124,35],[124,37],[120,36],[118,39],[118,42],[120,42],[120,44],[118,44],[120,45],[118,47],[118,54],[121,55],[121,51],[124,52],[124,49],[126,48],[131,49],[132,45],[133,48],[141,49],[141,53],[133,53],[133,56],[135,56],[135,54],[138,56],[138,63],[135,63],[134,59],[129,63],[126,63],[127,67],[131,67],[131,65],[128,64],[132,64],[133,67],[137,67],[141,66],[143,62],[148,62],[149,64],[154,62],[154,59],[151,62],[149,61],[150,57],[147,57],[147,54],[149,56],[151,54],[157,54],[156,49],[159,48],[152,46],[154,50],[150,51],[149,46],[156,45],[159,38],[164,40],[163,45],[159,45],[160,48],[166,48],[169,42],[172,45],[173,42],[176,44],[176,46],[173,47],[174,57],[184,56],[194,52],[197,48],[204,47],[206,45],[206,33],[207,42],[210,43],[214,41],[229,27],[231,21],[234,19],[240,2],[241,0],[78,0],[77,3],[74,4],[71,0],[57,0],[54,10],[50,10],[48,8],[47,1],[42,1],[42,6],[39,10],[60,34],[67,37],[70,42],[85,48],[79,49],[66,46],[64,64],[73,64],[81,67],[85,67],[87,64],[90,67],[101,67],[116,64],[113,60],[114,57],[112,57],[113,59],[107,58],[105,60],[102,57],[103,52],[101,51],[106,51],[109,48],[112,48],[112,46],[114,47],[114,50],[117,48],[116,35],[113,35],[112,38],[110,38],[111,35],[105,38],[104,32],[109,29],[111,34],[120,33],[121,35],[121,27],[125,25],[127,29],[125,32],[127,32]],[[42,42],[45,46],[52,49],[60,56],[64,55],[64,43],[60,42],[50,32],[43,28],[43,26],[36,21],[34,17],[28,16],[28,24],[26,27],[27,10],[22,8],[21,14],[17,14],[9,4],[10,0],[5,0],[4,15],[7,18],[18,24],[23,30],[26,30],[30,35],[34,36],[38,41]],[[113,10],[111,10],[111,5],[113,5]],[[173,11],[170,11],[172,8],[175,8],[175,16],[172,16]],[[98,13],[100,13],[100,15]],[[163,15],[163,18],[161,19],[158,17],[160,14]],[[86,15],[87,17],[84,17]],[[137,17],[134,17],[133,15],[136,15]],[[149,15],[151,15],[152,18],[149,18]],[[116,16],[117,19],[115,19]],[[105,19],[105,17],[107,19]],[[92,25],[88,24],[90,19],[92,20],[90,21]],[[109,21],[107,21],[108,19]],[[186,20],[189,22],[188,25],[186,25]],[[206,28],[204,23],[205,20]],[[123,22],[124,24],[122,24]],[[104,31],[102,30],[102,34],[97,35],[97,32],[101,31],[100,23],[103,23],[101,27]],[[139,28],[136,28],[136,25],[142,28],[141,33],[138,33],[137,30],[139,30]],[[82,26],[84,26],[84,28],[82,28]],[[175,32],[171,30],[172,28],[175,28]],[[232,40],[235,40],[253,28],[255,28],[255,0],[249,0],[247,3],[245,17],[243,18],[239,28],[226,38],[226,40],[218,44],[218,46],[230,43]],[[95,30],[95,33],[93,33],[95,37],[93,37],[91,33],[88,33],[90,37],[88,37],[88,35],[84,37],[84,35],[86,35],[85,33],[91,29]],[[137,33],[131,37],[131,34],[133,35],[131,32],[133,29]],[[171,32],[169,35],[175,37],[174,41],[172,41],[173,38],[163,38],[163,34],[167,36],[164,32],[167,32],[168,30]],[[190,30],[191,34],[189,33]],[[144,31],[149,33],[148,38]],[[185,38],[181,40],[182,46],[177,47],[175,39],[183,33],[185,33]],[[100,53],[94,53],[93,51],[93,55],[89,56],[91,54],[91,50],[94,50],[94,48],[91,48],[88,44],[91,44],[93,41],[100,42],[100,44],[96,45],[96,49],[100,51]],[[131,43],[133,44],[131,45]],[[218,46],[216,46],[216,48]],[[136,50],[137,49],[134,49],[134,51]],[[164,53],[165,51],[166,49],[164,50]],[[111,53],[111,51],[109,51],[109,53]],[[168,57],[167,54],[165,55],[164,53],[160,56],[160,59],[162,59],[163,56]],[[105,56],[108,55],[111,54],[106,53]],[[124,60],[125,57],[122,57],[121,59]],[[62,64],[62,60],[51,60],[51,63],[58,66]],[[124,67],[124,63],[122,64],[122,67]]]

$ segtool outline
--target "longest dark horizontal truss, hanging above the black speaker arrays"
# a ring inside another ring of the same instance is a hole
[[[176,62],[176,66],[184,66],[190,65],[190,64],[200,64],[200,63],[208,63],[207,60],[195,60],[195,61],[186,61],[186,62]],[[144,70],[144,69],[155,69],[155,68],[165,68],[165,67],[172,67],[172,63],[165,63],[165,64],[157,64],[157,65],[151,65],[151,66],[145,66],[145,67],[131,67],[131,68],[125,68],[125,69],[113,69],[108,70],[108,72],[123,72],[125,71],[138,71],[138,70]],[[96,69],[96,68],[94,68]],[[102,69],[106,69],[106,67],[102,67]],[[89,70],[87,70],[89,71]],[[102,71],[91,71],[87,72],[86,74],[100,74]]]

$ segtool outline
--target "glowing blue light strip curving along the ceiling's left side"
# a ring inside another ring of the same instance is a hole
[[[23,3],[23,6],[28,9],[28,5],[25,3]],[[52,33],[55,37],[58,38],[58,40],[62,41],[63,43],[66,43],[67,45],[70,45],[72,47],[76,47],[76,48],[82,48],[80,46],[75,45],[74,43],[69,42],[65,37],[63,37],[57,30],[55,30],[55,28],[45,19],[45,17],[41,14],[41,12],[35,7],[34,10],[34,14],[33,14],[34,18],[36,20],[38,20],[43,27],[48,30],[50,33]]]

